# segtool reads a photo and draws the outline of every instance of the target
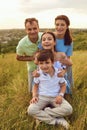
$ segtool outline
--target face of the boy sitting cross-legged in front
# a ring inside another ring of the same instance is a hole
[[[44,73],[50,74],[53,69],[53,62],[51,61],[51,59],[48,59],[47,61],[39,61],[38,65]]]

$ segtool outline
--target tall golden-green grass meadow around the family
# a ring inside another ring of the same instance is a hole
[[[70,130],[87,130],[87,51],[74,51],[72,97],[73,114],[66,118]],[[34,130],[35,120],[27,115],[31,95],[27,87],[25,62],[15,53],[0,55],[0,130]],[[62,126],[41,123],[38,130],[64,130]]]

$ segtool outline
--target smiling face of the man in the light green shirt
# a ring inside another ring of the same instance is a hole
[[[31,41],[38,38],[39,26],[36,21],[32,23],[27,22],[25,30]]]

